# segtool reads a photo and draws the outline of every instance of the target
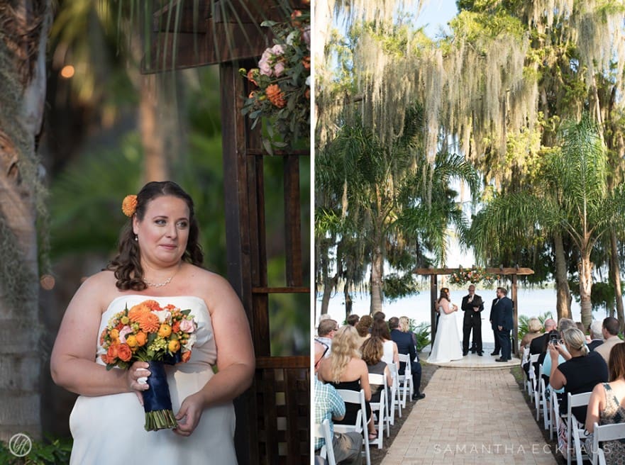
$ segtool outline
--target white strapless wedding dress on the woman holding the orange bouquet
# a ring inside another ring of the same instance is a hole
[[[166,306],[171,303],[182,310],[190,308],[197,319],[197,342],[187,363],[167,365],[174,413],[184,398],[199,391],[213,376],[217,349],[213,337],[211,316],[206,303],[199,297],[121,296],[109,304],[102,314],[98,337],[115,313],[153,299]],[[98,364],[104,365],[99,354],[104,349],[96,341]],[[235,416],[231,402],[207,408],[193,434],[176,435],[171,430],[145,431],[145,413],[135,393],[111,396],[79,396],[70,415],[70,430],[74,437],[70,464],[128,465],[141,464],[236,464],[234,449]]]

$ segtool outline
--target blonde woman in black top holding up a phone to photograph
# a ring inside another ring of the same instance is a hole
[[[560,412],[567,409],[567,394],[591,392],[597,383],[608,380],[608,367],[597,351],[590,352],[586,346],[586,337],[577,327],[560,332],[565,347],[557,341],[549,344],[551,357],[551,375],[549,383],[554,389],[564,387],[564,396]],[[566,349],[566,350],[564,350]],[[566,362],[558,365],[558,356]],[[580,422],[586,421],[586,405],[574,407],[573,415]]]

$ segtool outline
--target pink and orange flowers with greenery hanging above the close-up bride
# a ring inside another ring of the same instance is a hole
[[[273,148],[292,147],[310,138],[310,11],[294,10],[290,21],[263,21],[274,43],[262,53],[258,68],[239,72],[255,87],[243,104],[243,114],[252,128],[265,120],[268,138],[262,144]]]

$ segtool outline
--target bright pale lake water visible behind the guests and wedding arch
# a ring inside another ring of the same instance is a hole
[[[482,296],[485,302],[484,311],[482,311],[482,340],[484,342],[494,342],[494,335],[488,320],[490,315],[490,306],[492,299],[496,298],[494,289],[477,289],[476,293]],[[451,291],[451,301],[460,307],[463,296],[467,295],[465,289]],[[518,288],[517,292],[519,316],[526,315],[528,317],[543,315],[543,313],[551,311],[553,318],[557,317],[555,311],[555,289],[524,289]],[[510,297],[510,294],[508,294]],[[317,301],[317,311],[321,308],[321,298]],[[357,315],[367,315],[369,313],[370,297],[368,294],[359,294],[354,297],[353,313]],[[430,291],[421,291],[416,296],[410,296],[399,299],[392,303],[382,303],[382,311],[386,314],[387,320],[392,316],[407,316],[415,320],[418,325],[421,322],[430,323]],[[573,320],[580,321],[580,304],[573,298],[571,303],[571,311],[573,312]],[[330,299],[328,313],[334,320],[342,323],[345,320],[345,299],[343,294],[337,294]],[[455,314],[458,318],[458,335],[462,339],[462,323],[463,310],[458,310]],[[603,320],[607,315],[603,309],[595,310],[592,318],[595,320]],[[319,323],[319,315],[316,315],[315,327]]]

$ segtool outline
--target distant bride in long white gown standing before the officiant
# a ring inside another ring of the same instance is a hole
[[[441,296],[436,301],[438,306],[438,325],[436,327],[436,339],[432,346],[432,352],[428,357],[428,363],[444,363],[463,358],[463,349],[460,347],[458,337],[458,325],[454,312],[458,306],[450,302],[449,289],[441,288]]]

